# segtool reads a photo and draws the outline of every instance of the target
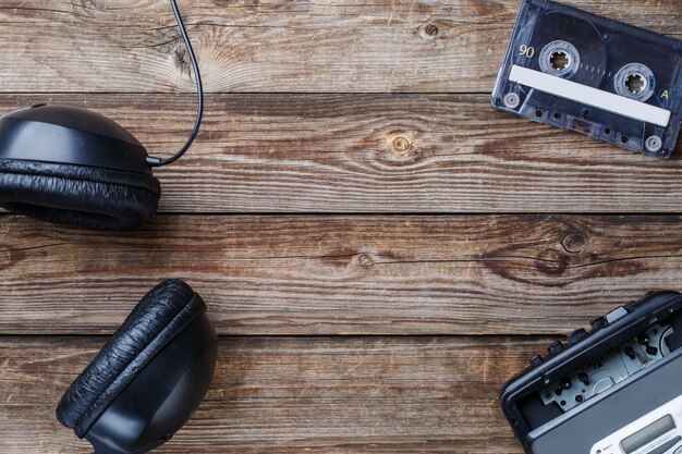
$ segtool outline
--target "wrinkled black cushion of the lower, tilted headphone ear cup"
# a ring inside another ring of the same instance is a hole
[[[57,407],[59,421],[84,438],[144,367],[205,311],[202,297],[182,281],[153,289],[69,386]]]

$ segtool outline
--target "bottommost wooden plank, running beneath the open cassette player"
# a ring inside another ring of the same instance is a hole
[[[0,451],[87,452],[53,410],[102,342],[0,338]],[[222,339],[207,400],[158,453],[521,454],[498,395],[548,342]]]

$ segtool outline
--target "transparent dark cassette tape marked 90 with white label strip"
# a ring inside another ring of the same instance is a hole
[[[496,108],[670,157],[682,120],[682,41],[548,0],[524,0]]]

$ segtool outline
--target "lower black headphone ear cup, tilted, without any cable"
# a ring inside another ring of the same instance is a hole
[[[206,305],[170,280],[135,307],[57,407],[94,454],[142,454],[170,440],[199,406],[216,367]]]

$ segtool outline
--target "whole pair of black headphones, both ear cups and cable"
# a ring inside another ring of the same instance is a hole
[[[122,126],[85,109],[19,109],[0,116],[0,206],[88,229],[131,229],[154,217],[161,187],[153,168],[190,149],[204,111],[196,57],[170,1],[198,91],[196,121],[182,149],[168,159],[149,157]],[[202,297],[182,281],[166,281],[71,384],[57,418],[89,441],[94,454],[146,453],[170,440],[199,406],[216,355]]]

